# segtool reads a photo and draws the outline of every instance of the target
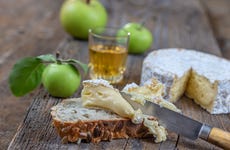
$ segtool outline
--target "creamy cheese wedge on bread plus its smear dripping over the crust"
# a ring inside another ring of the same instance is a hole
[[[140,110],[134,110],[118,89],[113,88],[109,82],[102,79],[85,80],[83,86],[81,93],[83,106],[108,109],[122,117],[130,118],[135,124],[143,123],[149,129],[149,133],[156,137],[155,142],[166,140],[165,128],[159,125],[158,121],[149,120],[149,116]]]

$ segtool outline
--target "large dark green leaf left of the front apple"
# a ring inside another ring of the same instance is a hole
[[[44,58],[44,57],[43,57]],[[9,76],[9,85],[15,96],[23,96],[34,90],[40,83],[45,65],[41,59],[28,57],[19,60]]]

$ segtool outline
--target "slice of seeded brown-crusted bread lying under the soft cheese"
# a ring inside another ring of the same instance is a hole
[[[161,135],[151,135],[149,128],[144,125],[144,121],[140,124],[134,124],[131,119],[120,117],[109,110],[96,107],[85,108],[82,106],[81,98],[63,100],[63,102],[52,107],[51,115],[53,125],[64,143],[79,143],[81,140],[98,143],[102,140],[150,136],[158,136],[158,139],[165,140],[167,134],[165,130],[161,130]],[[157,122],[154,117],[148,117],[148,120]],[[154,127],[162,128],[158,123]]]

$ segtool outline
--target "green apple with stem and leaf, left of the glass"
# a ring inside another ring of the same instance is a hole
[[[73,65],[53,63],[45,68],[42,83],[50,95],[69,97],[78,89],[81,75]]]

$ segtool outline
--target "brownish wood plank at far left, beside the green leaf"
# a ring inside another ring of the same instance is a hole
[[[61,2],[0,1],[0,149],[7,149],[36,93],[14,97],[7,83],[10,69],[22,57],[56,49],[65,35],[58,19]]]

